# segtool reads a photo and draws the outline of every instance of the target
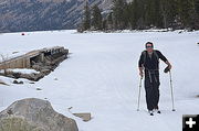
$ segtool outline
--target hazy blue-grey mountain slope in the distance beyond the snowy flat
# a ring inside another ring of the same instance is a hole
[[[108,10],[112,0],[88,0]],[[84,0],[0,0],[0,32],[74,29]]]

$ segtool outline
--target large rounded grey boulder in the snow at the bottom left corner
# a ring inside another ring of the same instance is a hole
[[[78,131],[73,119],[57,113],[46,100],[13,102],[0,112],[0,131]]]

